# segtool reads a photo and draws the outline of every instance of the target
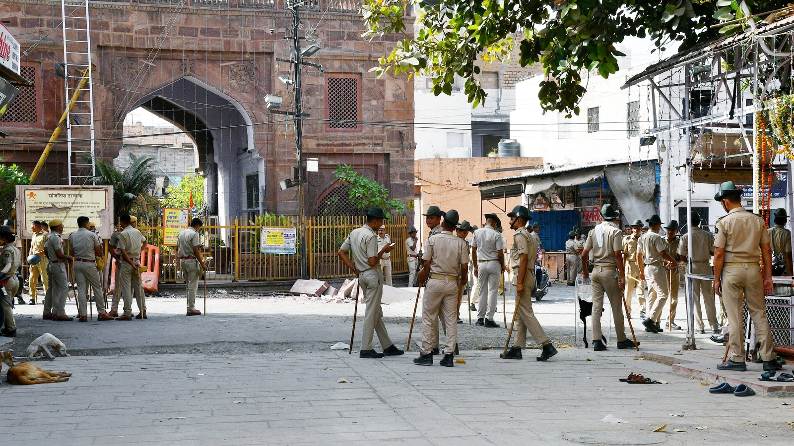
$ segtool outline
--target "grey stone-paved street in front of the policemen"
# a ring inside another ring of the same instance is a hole
[[[570,290],[555,286],[548,300],[535,305],[544,325],[567,322],[568,336]],[[788,424],[794,422],[794,406],[788,406],[794,399],[711,395],[711,382],[676,374],[634,350],[561,348],[547,363],[534,360],[537,349],[525,350],[522,361],[499,359],[496,350],[468,350],[459,356],[466,363],[453,368],[418,367],[411,362],[415,348],[387,359],[331,351],[331,344],[349,341],[352,303],[217,298],[207,304],[214,313],[189,318],[183,299],[152,298],[148,305],[147,321],[89,324],[41,321],[33,317],[40,306],[18,307],[22,337],[46,329],[75,354],[36,363],[74,375],[67,383],[37,386],[10,386],[3,379],[4,444],[794,440]],[[412,310],[413,302],[384,306],[387,328],[401,348]],[[471,330],[467,336],[476,336],[476,329],[484,333],[468,323],[459,327]],[[680,348],[680,335],[642,337],[643,352]],[[17,340],[13,348],[19,354],[25,345]],[[716,345],[703,348],[700,355],[719,355]],[[620,383],[630,371],[668,384]],[[339,383],[341,378],[349,383]],[[601,421],[610,414],[627,423]],[[661,425],[668,426],[651,432]]]

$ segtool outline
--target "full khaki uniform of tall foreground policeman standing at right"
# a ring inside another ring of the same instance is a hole
[[[723,302],[728,313],[728,325],[734,333],[730,336],[730,359],[745,362],[742,294],[755,327],[755,336],[761,343],[761,359],[774,359],[772,333],[766,317],[764,282],[759,259],[760,247],[769,243],[769,233],[761,217],[738,207],[717,221],[714,247],[725,249],[722,288]]]

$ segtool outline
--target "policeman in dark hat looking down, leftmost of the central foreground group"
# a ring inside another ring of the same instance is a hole
[[[388,244],[378,249],[378,236],[376,229],[384,224],[387,218],[380,207],[372,207],[364,212],[367,222],[347,236],[339,248],[338,255],[346,267],[349,267],[358,276],[361,290],[364,290],[364,330],[361,333],[360,358],[383,358],[384,356],[398,356],[404,352],[397,348],[386,332],[384,325],[384,312],[380,308],[380,298],[384,294],[384,275],[380,268],[380,259],[384,252],[391,252]],[[353,261],[348,252],[353,252]],[[378,333],[380,346],[383,353],[372,348],[372,335]]]

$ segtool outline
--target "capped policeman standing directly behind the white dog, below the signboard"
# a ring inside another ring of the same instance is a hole
[[[66,315],[66,298],[69,289],[66,262],[73,262],[75,258],[64,254],[64,242],[60,238],[60,234],[64,233],[64,221],[56,218],[49,222],[49,227],[50,234],[44,242],[44,252],[47,253],[49,260],[47,265],[49,287],[44,294],[44,319],[74,321],[74,317]]]

